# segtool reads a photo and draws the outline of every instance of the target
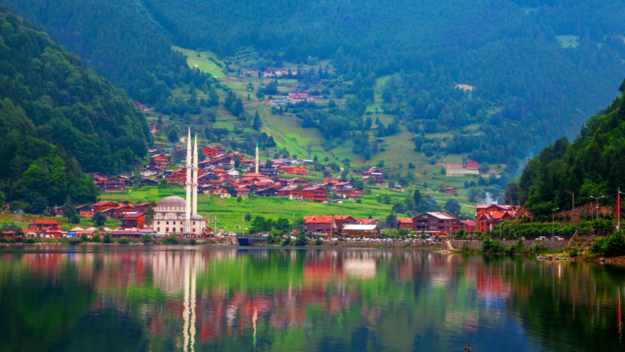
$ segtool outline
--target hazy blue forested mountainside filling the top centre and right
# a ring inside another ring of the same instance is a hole
[[[351,111],[330,112],[329,121],[344,122],[339,125],[348,132],[359,129],[375,78],[396,74],[385,88],[398,123],[414,133],[478,123],[483,133],[423,144],[435,152],[473,152],[484,161],[522,158],[562,135],[563,127],[574,128],[572,117],[599,110],[625,75],[625,24],[619,21],[625,4],[617,0],[144,4],[182,46],[221,55],[253,46],[275,66],[331,58],[350,82],[346,92],[358,98]],[[567,36],[579,36],[579,46],[563,48]],[[457,84],[476,90],[458,95]],[[325,120],[315,119],[317,125]]]

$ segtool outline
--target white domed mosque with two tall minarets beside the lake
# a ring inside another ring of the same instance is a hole
[[[191,170],[193,171],[191,182]],[[152,230],[154,235],[169,233],[202,233],[206,228],[206,220],[197,214],[197,136],[193,151],[193,167],[191,168],[191,129],[187,138],[187,199],[179,196],[162,198],[154,211]],[[191,204],[191,196],[193,203]]]

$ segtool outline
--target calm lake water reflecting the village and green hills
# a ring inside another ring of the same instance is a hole
[[[625,269],[421,250],[0,250],[0,351],[624,351]]]

